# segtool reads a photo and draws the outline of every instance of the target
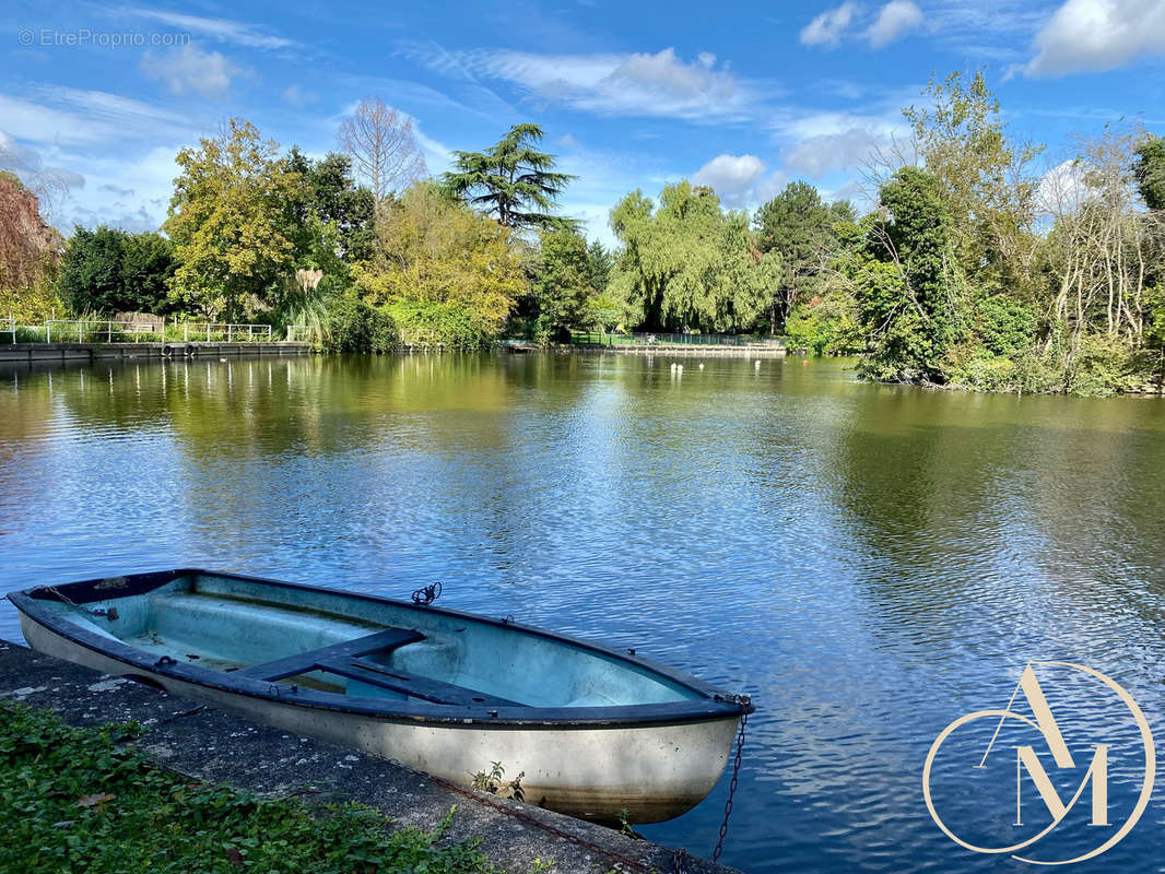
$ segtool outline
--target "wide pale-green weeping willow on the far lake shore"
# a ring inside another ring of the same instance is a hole
[[[709,188],[668,185],[658,209],[635,191],[610,224],[623,244],[612,289],[649,329],[751,330],[779,283],[779,255],[762,255],[748,216],[725,213]]]

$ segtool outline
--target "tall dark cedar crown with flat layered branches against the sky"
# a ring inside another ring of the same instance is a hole
[[[542,136],[537,125],[515,125],[485,151],[454,151],[457,169],[443,183],[506,227],[560,226],[567,220],[550,211],[574,177],[556,172],[555,156],[535,150]]]

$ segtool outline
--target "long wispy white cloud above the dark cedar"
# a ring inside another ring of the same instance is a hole
[[[629,55],[446,51],[402,44],[404,54],[463,82],[508,82],[530,97],[603,115],[723,120],[746,117],[749,90],[701,52],[692,63],[672,48]]]

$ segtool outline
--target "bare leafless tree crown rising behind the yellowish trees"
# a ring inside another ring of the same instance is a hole
[[[360,101],[352,117],[340,124],[339,141],[376,203],[428,172],[412,134],[412,119],[380,98]]]

